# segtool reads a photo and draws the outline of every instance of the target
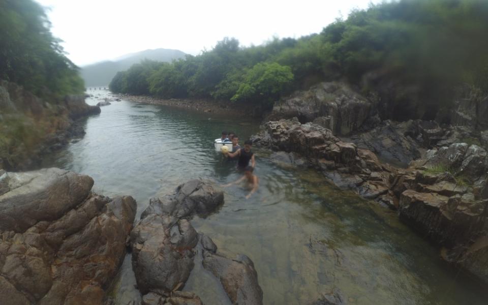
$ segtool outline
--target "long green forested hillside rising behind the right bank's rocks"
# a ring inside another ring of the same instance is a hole
[[[375,92],[389,118],[434,118],[461,87],[488,92],[488,2],[402,0],[353,11],[319,34],[241,47],[225,38],[198,56],[118,73],[116,93],[272,104],[322,80]]]

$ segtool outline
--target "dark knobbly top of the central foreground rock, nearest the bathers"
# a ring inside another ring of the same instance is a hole
[[[152,198],[141,219],[149,214],[172,215],[176,218],[205,216],[224,203],[224,193],[210,184],[194,179],[178,186],[171,195]]]

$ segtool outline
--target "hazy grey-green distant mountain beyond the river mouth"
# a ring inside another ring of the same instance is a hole
[[[88,66],[81,67],[80,75],[85,81],[86,87],[108,86],[112,78],[119,71],[125,71],[132,65],[140,63],[143,59],[158,60],[159,62],[171,62],[173,59],[184,57],[186,54],[179,50],[154,49],[131,53]]]

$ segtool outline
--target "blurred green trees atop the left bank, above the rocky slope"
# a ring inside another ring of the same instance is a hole
[[[34,1],[0,2],[0,79],[40,97],[82,94],[78,68],[64,55],[49,26],[44,9]]]

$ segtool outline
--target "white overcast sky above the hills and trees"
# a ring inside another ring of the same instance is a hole
[[[241,45],[319,33],[351,9],[381,0],[36,0],[79,66],[146,49],[196,55],[224,37]]]

